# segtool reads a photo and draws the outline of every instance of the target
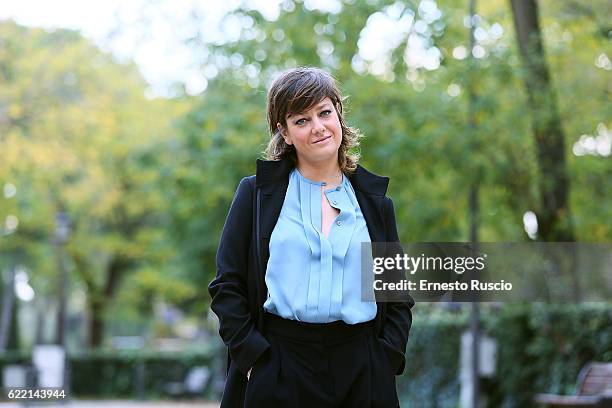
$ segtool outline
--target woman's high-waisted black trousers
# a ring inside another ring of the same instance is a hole
[[[399,406],[374,322],[304,323],[265,315],[271,344],[251,371],[246,408]]]

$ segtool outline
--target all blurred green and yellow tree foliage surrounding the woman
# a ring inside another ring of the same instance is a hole
[[[24,265],[37,295],[54,297],[54,218],[64,209],[73,220],[71,282],[90,306],[118,299],[120,310],[142,317],[159,296],[203,316],[233,193],[255,172],[268,140],[267,85],[297,65],[338,77],[349,96],[347,120],[366,136],[361,162],[391,178],[403,241],[466,240],[474,182],[481,239],[526,240],[522,216],[539,205],[539,175],[510,9],[502,0],[478,3],[479,27],[499,24],[502,34],[483,41],[486,55],[470,73],[467,61],[454,57],[468,41],[464,3],[438,1],[442,15],[426,26],[423,40],[442,55],[438,69],[408,66],[408,39],[401,38],[382,74],[371,62],[354,70],[364,27],[376,13],[398,9],[424,21],[420,2],[344,0],[336,13],[286,1],[274,21],[240,8],[227,17],[241,25],[239,39],[207,45],[205,63],[218,75],[201,95],[173,100],[145,98],[133,65],[117,63],[74,31],[0,22],[0,188],[17,187],[15,196],[0,196],[0,232],[7,216],[19,220],[0,238],[0,268]],[[576,235],[607,242],[611,161],[571,151],[581,135],[612,128],[609,72],[596,65],[601,55],[610,58],[602,20],[610,6],[541,3]],[[467,121],[470,85],[478,96],[474,127]],[[459,93],[451,96],[449,87]],[[519,323],[512,323],[517,336],[529,329]]]

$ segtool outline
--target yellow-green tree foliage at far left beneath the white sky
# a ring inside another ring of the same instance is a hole
[[[0,36],[0,186],[17,190],[0,201],[0,218],[18,220],[2,231],[3,261],[27,268],[37,301],[55,296],[54,222],[65,211],[70,281],[102,312],[125,276],[164,273],[174,254],[157,157],[182,105],[145,98],[134,65],[76,32],[2,21]]]

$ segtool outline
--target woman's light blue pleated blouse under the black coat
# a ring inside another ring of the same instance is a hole
[[[338,187],[324,191],[329,204],[340,210],[325,238],[324,185],[305,178],[297,168],[289,174],[285,201],[270,236],[264,310],[309,323],[372,320],[376,303],[361,301],[361,243],[370,242],[365,218],[343,175]]]

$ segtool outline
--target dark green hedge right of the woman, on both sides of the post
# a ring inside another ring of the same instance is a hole
[[[423,312],[421,312],[423,313]],[[415,321],[398,393],[406,407],[456,407],[465,313],[422,315]],[[497,340],[495,378],[483,382],[489,407],[533,406],[540,392],[571,394],[589,361],[612,361],[612,305],[507,304],[483,310],[484,332]]]

